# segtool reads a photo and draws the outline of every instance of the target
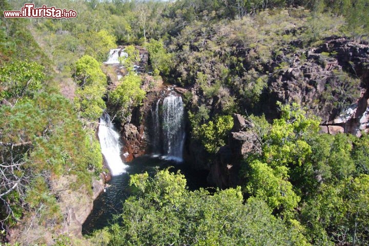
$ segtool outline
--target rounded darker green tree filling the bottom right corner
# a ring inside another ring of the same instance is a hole
[[[368,175],[322,184],[301,210],[301,220],[317,245],[333,242],[365,245],[368,227]]]

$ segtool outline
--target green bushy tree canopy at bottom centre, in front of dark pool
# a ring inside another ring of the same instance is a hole
[[[243,203],[240,188],[190,192],[180,173],[131,176],[137,188],[125,201],[108,245],[309,245],[297,227],[286,227],[260,199]],[[98,235],[98,233],[97,233]]]

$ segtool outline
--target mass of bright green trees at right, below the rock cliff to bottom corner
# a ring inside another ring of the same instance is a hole
[[[316,245],[366,243],[361,198],[369,191],[362,149],[367,135],[318,134],[319,119],[296,104],[281,106],[281,118],[269,127],[253,119],[263,144],[245,160],[245,192],[265,200],[276,215],[298,218]]]

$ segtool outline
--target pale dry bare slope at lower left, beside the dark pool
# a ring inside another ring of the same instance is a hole
[[[35,211],[31,217],[23,219],[24,222],[16,230],[9,233],[10,242],[22,245],[54,245],[55,235],[67,235],[73,242],[88,245],[82,236],[82,224],[92,211],[94,199],[104,190],[104,177],[92,180],[92,194],[85,187],[71,189],[76,178],[75,175],[69,175],[50,179],[50,191],[56,194],[57,205],[63,215],[60,223],[47,220],[39,223],[43,211]]]

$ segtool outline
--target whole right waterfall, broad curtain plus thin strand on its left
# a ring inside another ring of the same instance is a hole
[[[165,158],[182,161],[185,141],[182,98],[173,94],[167,96],[162,101],[160,111],[159,103],[160,99],[151,109],[153,154],[162,154]]]

